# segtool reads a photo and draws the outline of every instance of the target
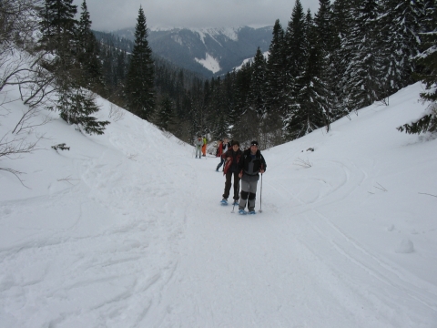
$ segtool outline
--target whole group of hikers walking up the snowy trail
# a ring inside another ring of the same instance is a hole
[[[207,156],[207,138],[198,136],[195,142],[196,159],[201,156]],[[200,149],[202,155],[200,155]],[[259,173],[261,175],[266,171],[267,164],[264,157],[259,151],[258,141],[250,142],[249,149],[241,151],[239,141],[223,138],[218,141],[216,157],[220,158],[216,171],[219,172],[223,166],[223,175],[226,176],[225,191],[223,193],[222,205],[228,205],[229,191],[232,187],[232,176],[234,181],[234,197],[232,205],[239,206],[239,214],[256,214],[255,200]],[[241,180],[241,193],[239,191],[239,181]],[[261,184],[262,185],[262,184]],[[248,211],[246,211],[246,206]]]

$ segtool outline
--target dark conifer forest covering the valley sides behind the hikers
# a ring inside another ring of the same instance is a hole
[[[267,54],[253,49],[239,70],[210,79],[153,54],[142,7],[134,42],[93,31],[86,0],[80,10],[72,0],[6,0],[0,23],[3,48],[14,44],[46,71],[44,78],[32,73],[33,106],[51,97],[46,108],[85,133],[104,133],[109,124],[93,117],[98,94],[188,143],[198,135],[243,145],[257,139],[268,149],[318,128],[329,131],[331,122],[374,102],[388,105],[394,92],[418,80],[428,88],[421,97],[431,102],[429,112],[398,129],[435,130],[435,6],[320,0],[313,14],[296,0],[290,21],[274,22]],[[34,24],[16,25],[23,14],[36,16]],[[20,69],[6,74],[3,86],[20,83]],[[42,91],[47,86],[50,92]]]

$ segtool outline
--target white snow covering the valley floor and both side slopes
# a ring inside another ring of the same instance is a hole
[[[27,187],[0,170],[0,326],[437,326],[437,140],[396,130],[420,92],[262,151],[255,216],[219,205],[218,159],[106,100],[103,136],[41,112],[41,150],[0,161]],[[1,110],[3,137],[25,108]]]

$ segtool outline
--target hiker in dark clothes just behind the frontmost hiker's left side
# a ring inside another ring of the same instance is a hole
[[[239,159],[242,152],[239,149],[239,141],[233,140],[232,147],[222,155],[226,159],[225,169],[223,174],[226,176],[225,192],[223,193],[223,205],[228,205],[228,197],[230,187],[232,187],[232,174],[234,175],[234,201],[233,204],[238,204],[239,201]]]

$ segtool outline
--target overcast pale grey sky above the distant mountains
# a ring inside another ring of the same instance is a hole
[[[80,5],[83,0],[74,0]],[[300,0],[304,11],[314,15],[319,0]],[[139,5],[143,6],[147,27],[235,27],[273,26],[276,19],[285,28],[295,0],[86,0],[98,31],[134,27]]]

